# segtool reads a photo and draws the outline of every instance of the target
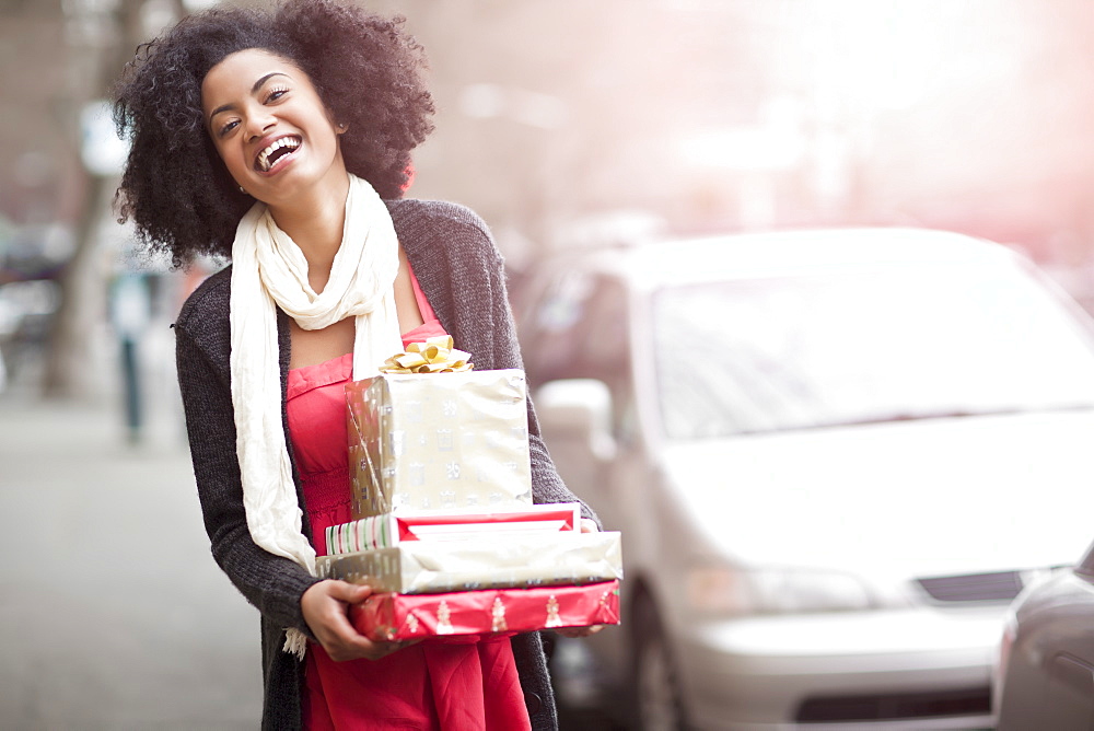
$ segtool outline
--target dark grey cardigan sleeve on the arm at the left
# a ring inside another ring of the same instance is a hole
[[[265,617],[311,635],[300,597],[318,579],[296,562],[260,548],[251,537],[235,454],[231,386],[199,344],[206,335],[203,322],[208,318],[179,317],[175,355],[194,476],[213,558]],[[197,336],[187,325],[199,330]]]

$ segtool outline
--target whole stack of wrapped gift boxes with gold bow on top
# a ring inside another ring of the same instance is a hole
[[[524,373],[451,345],[346,387],[353,520],[327,529],[318,575],[377,592],[351,608],[375,640],[617,624],[619,534],[532,503]]]

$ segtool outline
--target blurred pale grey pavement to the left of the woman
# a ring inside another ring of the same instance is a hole
[[[0,396],[0,727],[255,729],[258,614],[209,554],[177,414]]]

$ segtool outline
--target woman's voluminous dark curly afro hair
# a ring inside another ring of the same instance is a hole
[[[226,56],[260,48],[310,77],[341,136],[349,172],[384,198],[408,181],[410,151],[432,131],[421,47],[384,19],[334,0],[269,9],[212,9],[141,45],[114,92],[118,132],[130,141],[116,196],[120,221],[175,267],[196,255],[229,257],[254,204],[228,174],[202,123],[201,82]]]

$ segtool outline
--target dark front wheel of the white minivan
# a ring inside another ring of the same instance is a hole
[[[648,599],[635,607],[633,639],[631,689],[637,727],[641,731],[687,729],[676,663],[657,611]]]

